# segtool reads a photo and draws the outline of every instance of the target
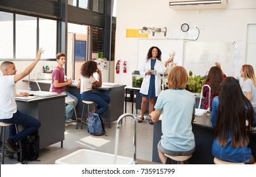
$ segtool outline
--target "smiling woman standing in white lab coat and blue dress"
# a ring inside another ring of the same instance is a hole
[[[138,123],[142,123],[144,120],[144,113],[146,111],[146,105],[150,101],[148,112],[149,114],[153,111],[155,106],[155,101],[161,91],[161,77],[160,74],[165,73],[165,66],[161,61],[162,52],[158,47],[151,47],[148,50],[148,54],[144,61],[144,64],[139,70],[141,76],[144,76],[143,82],[141,84],[142,102],[141,102],[141,118],[139,118]],[[149,120],[148,123],[153,125],[153,121]]]

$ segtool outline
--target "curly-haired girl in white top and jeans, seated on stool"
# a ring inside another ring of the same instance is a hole
[[[99,80],[96,80],[93,76],[93,73],[96,72],[99,75]],[[93,101],[97,104],[96,110],[93,110],[91,113],[96,112],[100,116],[108,110],[108,102],[110,102],[108,95],[92,91],[93,87],[101,87],[102,85],[101,70],[98,69],[95,61],[86,61],[82,64],[80,73],[81,78],[77,84],[77,88],[80,89],[81,99],[84,101]]]

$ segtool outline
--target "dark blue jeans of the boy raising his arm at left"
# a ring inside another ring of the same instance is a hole
[[[9,136],[15,143],[27,138],[27,136],[34,133],[41,126],[41,122],[38,119],[22,114],[18,109],[17,112],[13,114],[12,118],[0,119],[0,121],[3,123],[14,123],[23,126],[23,130],[18,133],[16,133],[15,125],[9,127]]]

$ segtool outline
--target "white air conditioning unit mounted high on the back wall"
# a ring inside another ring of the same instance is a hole
[[[226,9],[227,0],[169,0],[169,7],[174,10]]]

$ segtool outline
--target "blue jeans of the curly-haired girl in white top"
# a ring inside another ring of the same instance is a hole
[[[81,99],[84,101],[93,101],[95,104],[97,104],[96,113],[100,116],[101,114],[105,113],[106,110],[110,106],[108,106],[108,103],[110,102],[110,97],[105,94],[100,93],[94,93],[92,91],[87,91],[81,94]]]

